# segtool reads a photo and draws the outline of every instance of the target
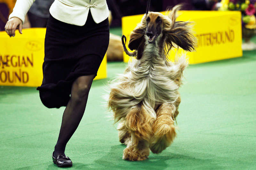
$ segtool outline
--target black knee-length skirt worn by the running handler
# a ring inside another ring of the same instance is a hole
[[[108,43],[108,18],[96,24],[89,12],[85,25],[76,26],[50,16],[44,43],[44,78],[37,87],[44,106],[67,106],[76,78],[97,75]]]

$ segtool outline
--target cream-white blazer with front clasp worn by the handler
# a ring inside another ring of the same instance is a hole
[[[17,0],[9,19],[17,17],[24,23],[25,15],[35,0]],[[95,23],[108,18],[106,0],[55,0],[50,8],[53,18],[62,22],[83,26],[87,20],[89,10]]]

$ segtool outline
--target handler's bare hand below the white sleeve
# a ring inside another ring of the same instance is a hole
[[[5,31],[10,37],[15,36],[15,30],[19,27],[19,32],[22,34],[22,21],[20,18],[13,17],[10,18],[9,21],[7,21],[5,25]]]

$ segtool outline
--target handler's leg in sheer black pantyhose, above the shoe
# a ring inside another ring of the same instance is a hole
[[[86,107],[88,94],[92,85],[94,75],[81,76],[77,78],[71,88],[71,98],[63,113],[60,134],[55,145],[54,157],[65,156],[65,148],[68,140],[76,131]]]

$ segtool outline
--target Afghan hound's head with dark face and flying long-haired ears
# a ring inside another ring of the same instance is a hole
[[[173,43],[186,51],[195,50],[196,41],[189,22],[176,21],[180,7],[181,5],[176,5],[168,16],[159,12],[148,12],[147,16],[145,14],[142,17],[141,22],[130,34],[128,44],[131,50],[137,50],[137,59],[142,57],[145,45],[150,43],[157,43],[159,46],[166,44],[165,53],[169,52]],[[161,42],[164,44],[159,44],[160,40],[163,40]]]

